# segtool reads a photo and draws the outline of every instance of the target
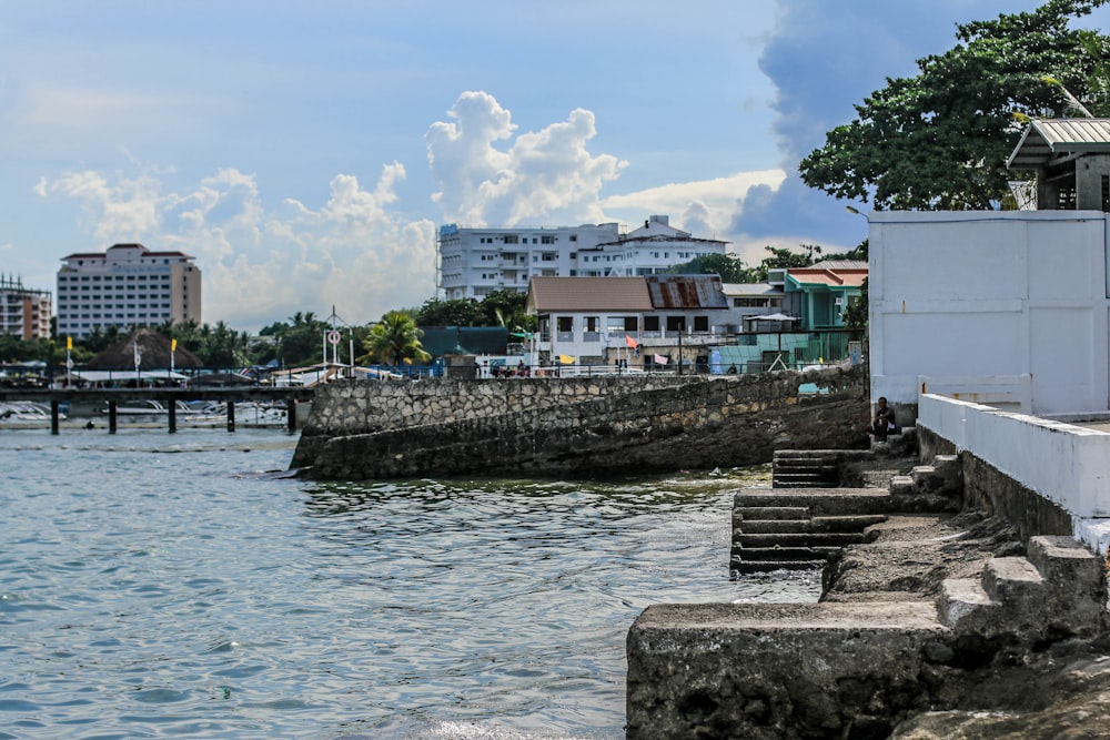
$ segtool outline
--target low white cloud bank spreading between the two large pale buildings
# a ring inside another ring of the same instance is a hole
[[[434,224],[406,222],[387,206],[404,178],[383,166],[370,189],[336,175],[325,203],[285,200],[268,207],[256,178],[224,169],[182,192],[163,192],[157,174],[71,172],[42,180],[43,197],[81,204],[85,230],[103,245],[142,242],[196,257],[204,321],[258,330],[296,311],[349,323],[415,306],[435,291]]]

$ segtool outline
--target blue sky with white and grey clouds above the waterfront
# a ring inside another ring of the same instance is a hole
[[[0,0],[0,277],[182,251],[202,321],[255,332],[418,307],[445,223],[848,250],[866,220],[798,162],[958,22],[1039,4]]]

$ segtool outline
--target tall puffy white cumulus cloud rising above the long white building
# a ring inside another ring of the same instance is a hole
[[[575,109],[566,121],[516,135],[512,115],[493,95],[464,92],[447,112],[453,121],[426,134],[445,221],[467,225],[582,223],[604,220],[602,187],[626,162],[587,149],[594,114]],[[507,142],[498,149],[500,142]]]

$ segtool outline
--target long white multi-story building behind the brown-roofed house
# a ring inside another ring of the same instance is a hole
[[[639,229],[582,226],[462,229],[441,226],[437,287],[445,300],[482,300],[494,291],[528,292],[532,277],[657,275],[696,257],[725,254],[728,242],[697,239],[652,216]]]

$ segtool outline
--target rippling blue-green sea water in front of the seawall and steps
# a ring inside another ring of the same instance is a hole
[[[735,577],[751,472],[283,477],[279,430],[0,432],[0,738],[622,738],[648,605]]]

